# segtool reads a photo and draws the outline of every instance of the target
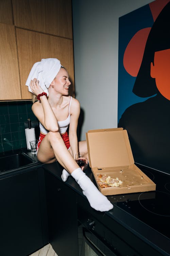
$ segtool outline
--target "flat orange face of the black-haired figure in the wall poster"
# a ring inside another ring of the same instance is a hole
[[[155,78],[159,92],[170,100],[170,49],[155,52],[151,62],[151,77]]]

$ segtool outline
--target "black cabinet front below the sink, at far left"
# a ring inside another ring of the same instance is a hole
[[[0,179],[0,255],[26,256],[48,242],[43,168]]]

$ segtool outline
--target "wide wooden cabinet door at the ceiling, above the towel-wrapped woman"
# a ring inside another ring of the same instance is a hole
[[[12,0],[14,25],[72,39],[71,0]]]

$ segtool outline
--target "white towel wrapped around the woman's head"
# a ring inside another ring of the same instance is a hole
[[[28,90],[32,93],[30,88],[30,82],[34,78],[39,80],[39,85],[48,95],[48,88],[51,82],[54,80],[55,76],[58,74],[61,68],[60,60],[56,58],[41,59],[41,61],[36,62],[28,76],[26,85]]]

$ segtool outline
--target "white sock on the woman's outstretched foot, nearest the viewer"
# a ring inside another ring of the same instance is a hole
[[[98,188],[92,183],[89,177],[81,170],[75,169],[71,176],[77,181],[83,194],[87,197],[90,205],[97,211],[105,212],[113,209],[113,204],[100,193]]]

